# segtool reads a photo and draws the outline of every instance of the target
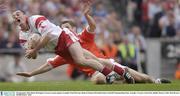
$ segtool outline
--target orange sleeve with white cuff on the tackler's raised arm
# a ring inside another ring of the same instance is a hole
[[[94,42],[95,34],[88,31],[88,27],[82,31],[80,38],[86,42]]]

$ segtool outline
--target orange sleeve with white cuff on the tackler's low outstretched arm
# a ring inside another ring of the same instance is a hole
[[[61,65],[64,65],[66,64],[66,60],[63,59],[63,57],[60,57],[60,56],[55,56],[54,58],[49,58],[47,59],[47,62],[53,67],[53,68],[56,68],[58,66],[61,66]]]

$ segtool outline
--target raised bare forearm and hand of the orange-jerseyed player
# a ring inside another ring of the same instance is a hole
[[[91,2],[84,3],[83,13],[89,25],[88,30],[90,33],[94,33],[94,30],[96,29],[96,22],[93,19],[93,17],[90,15],[90,11],[91,11]]]

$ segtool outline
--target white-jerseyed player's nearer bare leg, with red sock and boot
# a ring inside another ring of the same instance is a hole
[[[111,78],[112,81],[108,81],[110,83],[112,83],[116,79],[115,75],[113,75],[115,73],[111,71],[109,68],[103,66],[100,62],[98,62],[95,59],[85,58],[83,49],[81,48],[81,45],[79,44],[79,42],[73,43],[72,45],[70,45],[68,49],[75,63],[79,65],[89,66],[101,72],[107,78]]]

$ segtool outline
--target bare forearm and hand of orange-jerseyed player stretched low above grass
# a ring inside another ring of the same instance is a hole
[[[53,67],[50,66],[48,63],[46,63],[46,64],[40,66],[39,68],[31,71],[31,72],[18,72],[16,75],[24,76],[24,77],[31,77],[31,76],[34,76],[34,75],[38,75],[38,74],[48,72],[48,71],[50,71],[52,69],[53,69]]]

